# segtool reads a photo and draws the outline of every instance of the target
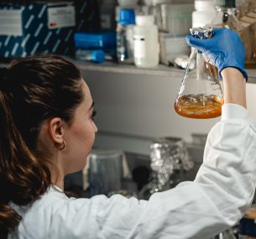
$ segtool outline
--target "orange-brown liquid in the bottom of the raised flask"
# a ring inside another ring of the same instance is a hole
[[[175,101],[175,112],[180,116],[206,119],[222,115],[224,101],[218,96],[186,95]]]

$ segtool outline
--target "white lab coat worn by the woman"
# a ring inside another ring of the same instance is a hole
[[[222,121],[208,135],[204,160],[193,182],[149,199],[69,199],[51,187],[23,217],[9,239],[206,239],[233,226],[253,200],[256,122],[238,105],[222,107]]]

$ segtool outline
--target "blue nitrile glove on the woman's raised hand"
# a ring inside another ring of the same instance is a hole
[[[186,36],[186,42],[191,47],[199,49],[208,60],[211,60],[221,72],[226,67],[240,70],[243,77],[248,80],[244,70],[245,48],[238,34],[230,29],[213,29],[211,39],[198,39],[192,35]]]

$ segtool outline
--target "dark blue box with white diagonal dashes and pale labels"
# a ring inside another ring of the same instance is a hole
[[[98,29],[95,0],[0,4],[0,57],[74,53],[76,31]]]

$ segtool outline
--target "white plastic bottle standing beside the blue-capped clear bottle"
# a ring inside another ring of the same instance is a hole
[[[154,16],[136,16],[133,32],[134,64],[138,67],[159,65],[159,34]]]

